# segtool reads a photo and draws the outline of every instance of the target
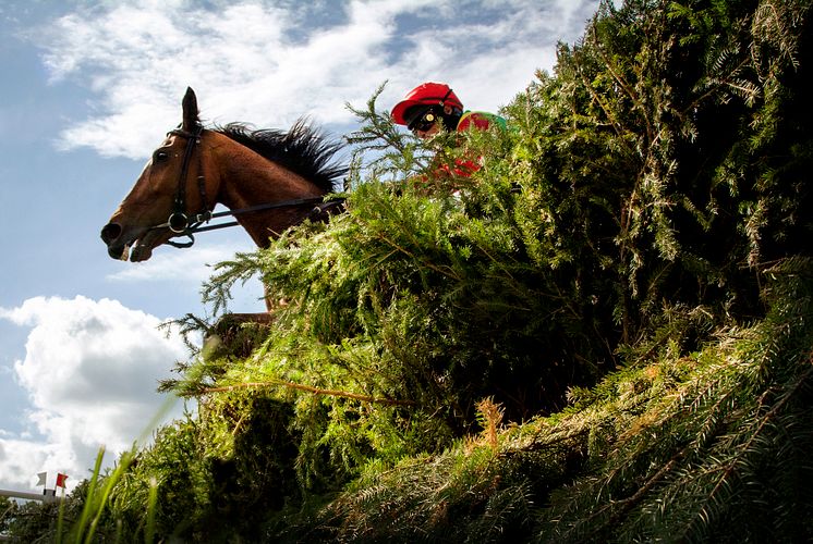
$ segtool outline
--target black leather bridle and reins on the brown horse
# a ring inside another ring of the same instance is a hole
[[[312,198],[295,198],[291,200],[282,200],[279,202],[268,202],[268,203],[262,203],[257,206],[250,206],[247,208],[240,208],[236,210],[226,210],[217,213],[213,213],[211,210],[209,210],[208,205],[208,198],[206,196],[206,178],[203,174],[203,161],[201,160],[201,153],[198,153],[198,168],[197,168],[197,190],[201,194],[201,207],[202,211],[198,213],[187,214],[186,213],[186,178],[189,177],[189,171],[190,171],[190,163],[192,161],[192,156],[195,152],[195,147],[201,144],[201,135],[203,134],[204,128],[202,125],[195,126],[195,129],[193,132],[184,131],[183,128],[174,128],[167,133],[167,136],[180,136],[182,138],[186,139],[186,147],[183,152],[183,162],[181,163],[181,172],[178,176],[178,187],[175,189],[175,197],[173,200],[172,206],[172,213],[169,214],[169,218],[167,219],[166,223],[161,223],[159,225],[151,226],[150,230],[154,228],[169,228],[173,235],[172,237],[179,237],[179,236],[186,236],[190,238],[189,242],[173,242],[171,239],[168,239],[165,242],[165,244],[168,244],[172,247],[178,248],[187,248],[192,247],[192,245],[195,243],[195,237],[193,236],[195,233],[201,233],[205,231],[215,231],[218,228],[227,228],[229,226],[236,226],[240,223],[236,221],[231,221],[228,223],[219,223],[215,225],[209,225],[209,221],[217,218],[222,218],[227,215],[239,215],[242,213],[251,213],[255,211],[262,211],[262,210],[270,210],[274,208],[289,208],[294,206],[305,206],[305,205],[316,205],[313,210],[311,210],[311,213],[308,214],[308,219],[317,219],[323,218],[325,213],[330,213],[333,211],[339,211],[343,209],[344,199],[343,198],[333,198],[330,200],[325,200],[324,197],[312,197]],[[202,226],[204,223],[207,223],[206,226]]]

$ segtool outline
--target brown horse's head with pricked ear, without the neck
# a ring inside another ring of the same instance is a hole
[[[170,131],[153,152],[130,194],[101,230],[113,259],[149,259],[153,249],[184,232],[189,218],[207,213],[215,205],[210,197],[217,194],[216,180],[204,176],[210,171],[205,153],[195,152],[202,146],[203,126],[191,88],[182,104],[181,127]]]

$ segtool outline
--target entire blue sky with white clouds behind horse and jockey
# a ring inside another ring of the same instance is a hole
[[[158,325],[194,313],[241,228],[108,257],[99,231],[195,89],[208,123],[340,138],[427,81],[497,112],[551,72],[597,0],[0,0],[0,489],[69,491],[184,406],[156,393],[190,354]],[[263,311],[258,281],[231,311]],[[167,408],[167,406],[170,408]],[[160,418],[159,418],[160,419]]]

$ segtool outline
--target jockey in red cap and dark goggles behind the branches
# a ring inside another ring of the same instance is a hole
[[[418,138],[429,138],[441,129],[463,132],[471,127],[506,127],[506,120],[494,113],[464,111],[463,102],[445,83],[427,82],[406,94],[392,108],[392,121],[405,125]]]

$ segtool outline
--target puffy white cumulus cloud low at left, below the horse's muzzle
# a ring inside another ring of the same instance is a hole
[[[31,401],[27,431],[0,434],[0,486],[29,489],[41,471],[75,484],[102,446],[114,461],[171,400],[156,393],[157,381],[187,357],[158,318],[116,300],[36,297],[0,308],[0,318],[31,327],[25,358],[14,363]]]

